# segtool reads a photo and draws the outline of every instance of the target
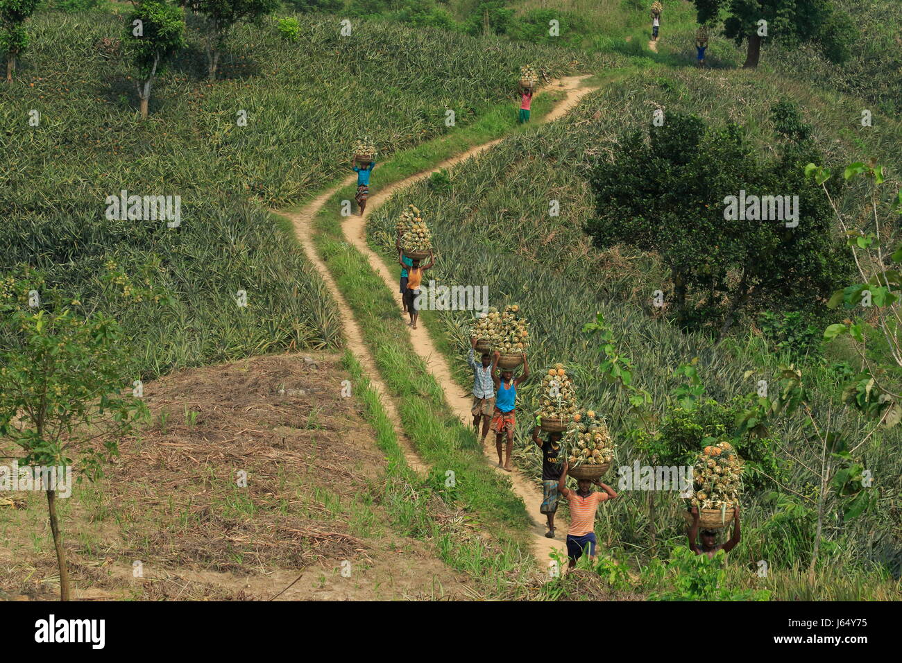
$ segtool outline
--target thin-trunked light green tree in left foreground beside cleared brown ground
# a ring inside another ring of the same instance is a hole
[[[116,437],[147,410],[132,393],[121,395],[130,363],[121,328],[111,318],[78,316],[78,305],[47,290],[32,272],[0,280],[0,437],[22,448],[20,465],[32,472],[71,468],[77,458],[79,472],[93,481],[118,454]],[[41,489],[60,567],[60,598],[68,601],[57,485],[43,483]]]

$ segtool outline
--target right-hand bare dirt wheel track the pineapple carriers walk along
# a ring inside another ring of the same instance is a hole
[[[587,77],[561,78],[560,80],[555,81],[552,85],[548,86],[548,89],[560,89],[565,91],[566,97],[558,102],[557,105],[548,113],[548,115],[545,116],[544,122],[551,122],[561,117],[562,115],[565,115],[579,102],[580,99],[582,99],[585,95],[595,89],[594,87],[580,87],[584,78]],[[385,281],[386,287],[388,287],[392,292],[396,292],[398,287],[396,272],[386,271],[380,256],[373,252],[369,244],[366,243],[367,217],[369,217],[374,210],[378,209],[388,198],[390,198],[393,194],[397,193],[401,189],[410,187],[410,185],[414,182],[428,177],[437,170],[447,169],[455,166],[461,161],[466,161],[467,159],[474,158],[482,152],[485,152],[486,150],[491,148],[493,145],[500,142],[501,139],[498,139],[490,141],[488,143],[483,143],[482,145],[477,145],[476,147],[467,150],[466,152],[462,152],[455,157],[452,157],[451,159],[447,159],[446,161],[438,163],[435,167],[429,170],[424,170],[415,175],[411,175],[409,178],[391,185],[391,187],[382,189],[379,193],[372,196],[367,201],[366,213],[363,217],[351,216],[343,222],[342,229],[347,241],[351,244],[354,244],[354,247],[358,251],[360,251],[360,253],[363,253],[366,256],[367,260],[370,263],[370,267],[373,268],[374,272],[382,276],[382,280]],[[397,299],[398,311],[400,314],[400,297],[398,297]],[[465,426],[472,426],[473,417],[470,414],[470,395],[469,393],[460,393],[461,390],[456,385],[456,382],[454,382],[451,368],[447,364],[444,355],[441,355],[437,351],[435,345],[433,345],[432,343],[432,339],[428,335],[427,330],[422,327],[422,325],[420,325],[417,329],[409,328],[409,332],[411,336],[411,342],[414,349],[417,351],[417,354],[427,364],[429,372],[432,373],[438,384],[443,385],[443,387],[445,388],[445,398],[451,410],[455,412],[457,417]],[[486,460],[492,465],[497,465],[498,456],[492,442],[486,443],[484,452]],[[535,483],[532,483],[532,481],[530,481],[528,477],[520,474],[520,472],[518,471],[514,471],[513,473],[506,473],[503,470],[498,469],[498,472],[507,474],[511,477],[514,493],[517,493],[520,499],[523,500],[530,514],[538,514],[538,505],[542,502],[542,493],[538,489],[538,486]],[[556,518],[555,525],[557,529],[557,539],[547,539],[545,537],[546,528],[544,519],[543,522],[538,522],[537,520],[535,520],[535,518],[533,519],[532,548],[539,562],[543,565],[548,563],[548,554],[553,549],[565,551],[565,546],[562,539],[564,539],[564,532],[566,532],[566,522],[563,521],[560,516],[558,516]]]

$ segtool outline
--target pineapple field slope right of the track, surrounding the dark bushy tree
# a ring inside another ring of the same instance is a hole
[[[732,89],[737,97],[747,100],[735,106],[724,94]],[[833,117],[843,107],[855,107],[855,102],[842,99],[838,103],[829,94],[817,94],[793,81],[776,75],[750,75],[748,72],[697,75],[692,71],[647,70],[622,83],[614,83],[602,93],[585,100],[566,120],[541,128],[537,134],[524,134],[504,141],[482,160],[465,170],[451,173],[450,189],[444,190],[429,182],[416,185],[404,196],[397,197],[379,210],[373,218],[370,236],[374,244],[385,249],[391,246],[394,218],[400,208],[415,202],[436,234],[441,253],[436,268],[443,282],[487,284],[492,303],[500,305],[505,298],[525,307],[533,325],[533,337],[538,345],[532,351],[533,364],[541,367],[563,361],[576,368],[581,397],[599,405],[622,433],[624,403],[610,387],[600,384],[596,366],[600,355],[591,339],[578,333],[583,322],[594,310],[603,310],[618,332],[621,342],[639,364],[638,380],[656,395],[658,403],[674,385],[670,371],[682,361],[701,356],[702,375],[709,391],[717,398],[751,391],[751,383],[743,382],[742,373],[758,367],[765,376],[773,373],[777,361],[769,357],[756,337],[736,339],[726,347],[713,349],[701,336],[684,336],[666,323],[649,319],[633,305],[617,303],[625,294],[634,291],[642,298],[649,296],[656,283],[654,272],[647,266],[636,266],[636,256],[600,254],[591,249],[581,235],[580,227],[591,212],[591,201],[585,189],[582,167],[592,154],[610,153],[612,140],[624,126],[645,124],[650,109],[660,104],[668,109],[685,109],[721,121],[732,118],[747,124],[750,134],[766,149],[769,126],[759,118],[766,117],[769,104],[782,97],[798,97],[806,101],[806,115],[815,123],[819,143],[827,146],[833,160],[847,160],[858,148],[857,141],[870,148],[870,153],[893,162],[897,155],[897,125],[885,125],[873,134],[851,134],[854,127],[837,127],[824,118]],[[595,118],[596,111],[600,115]],[[839,141],[839,143],[834,143]],[[525,158],[523,158],[525,155]],[[561,164],[566,164],[566,168]],[[464,195],[462,192],[467,192]],[[561,200],[561,216],[548,217],[548,200]],[[574,251],[574,246],[578,248]],[[387,254],[387,253],[386,253]],[[620,260],[616,262],[615,258]],[[453,265],[453,270],[442,265]],[[657,286],[655,286],[657,287]],[[424,320],[435,332],[436,323],[449,338],[446,348],[460,358],[466,341],[463,313],[424,314]],[[458,365],[463,366],[459,361]],[[461,384],[465,384],[461,369]],[[529,399],[529,390],[524,390]],[[829,399],[820,401],[820,415],[833,410]],[[862,422],[848,410],[838,409],[842,427],[854,437]],[[518,435],[521,465],[538,471],[538,455],[526,439],[522,428]],[[798,450],[804,447],[803,431],[798,421],[781,431]],[[897,435],[886,437],[867,453],[869,466],[879,466],[880,474],[899,474]],[[621,464],[631,464],[630,447],[619,451]],[[791,468],[792,484],[801,487],[805,475],[799,468]],[[888,488],[886,508],[893,489]],[[761,496],[749,495],[745,504],[748,514],[746,541],[748,545],[733,553],[734,557],[749,561],[762,558],[805,557],[804,550],[787,550],[781,539],[789,539],[780,531],[774,509]],[[632,500],[630,502],[630,500]],[[661,513],[660,536],[674,542],[681,540],[682,528],[676,514],[676,501]],[[877,557],[893,557],[891,521],[871,516],[851,526],[852,549],[861,550],[870,539],[870,529],[877,532],[874,551]],[[615,524],[602,522],[599,533],[603,539],[621,541],[628,550],[647,546],[643,515],[634,499],[628,498],[612,509]],[[611,529],[613,527],[613,529]],[[779,536],[775,536],[777,532]],[[805,547],[810,542],[798,544]],[[844,548],[839,554],[849,564],[859,563],[858,553]],[[737,555],[739,553],[739,555]]]

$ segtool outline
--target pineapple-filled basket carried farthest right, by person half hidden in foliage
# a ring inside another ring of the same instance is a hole
[[[733,519],[739,504],[742,459],[729,442],[704,447],[695,459],[693,493],[686,500],[686,522],[692,524],[692,507],[698,509],[702,529],[723,529]]]

